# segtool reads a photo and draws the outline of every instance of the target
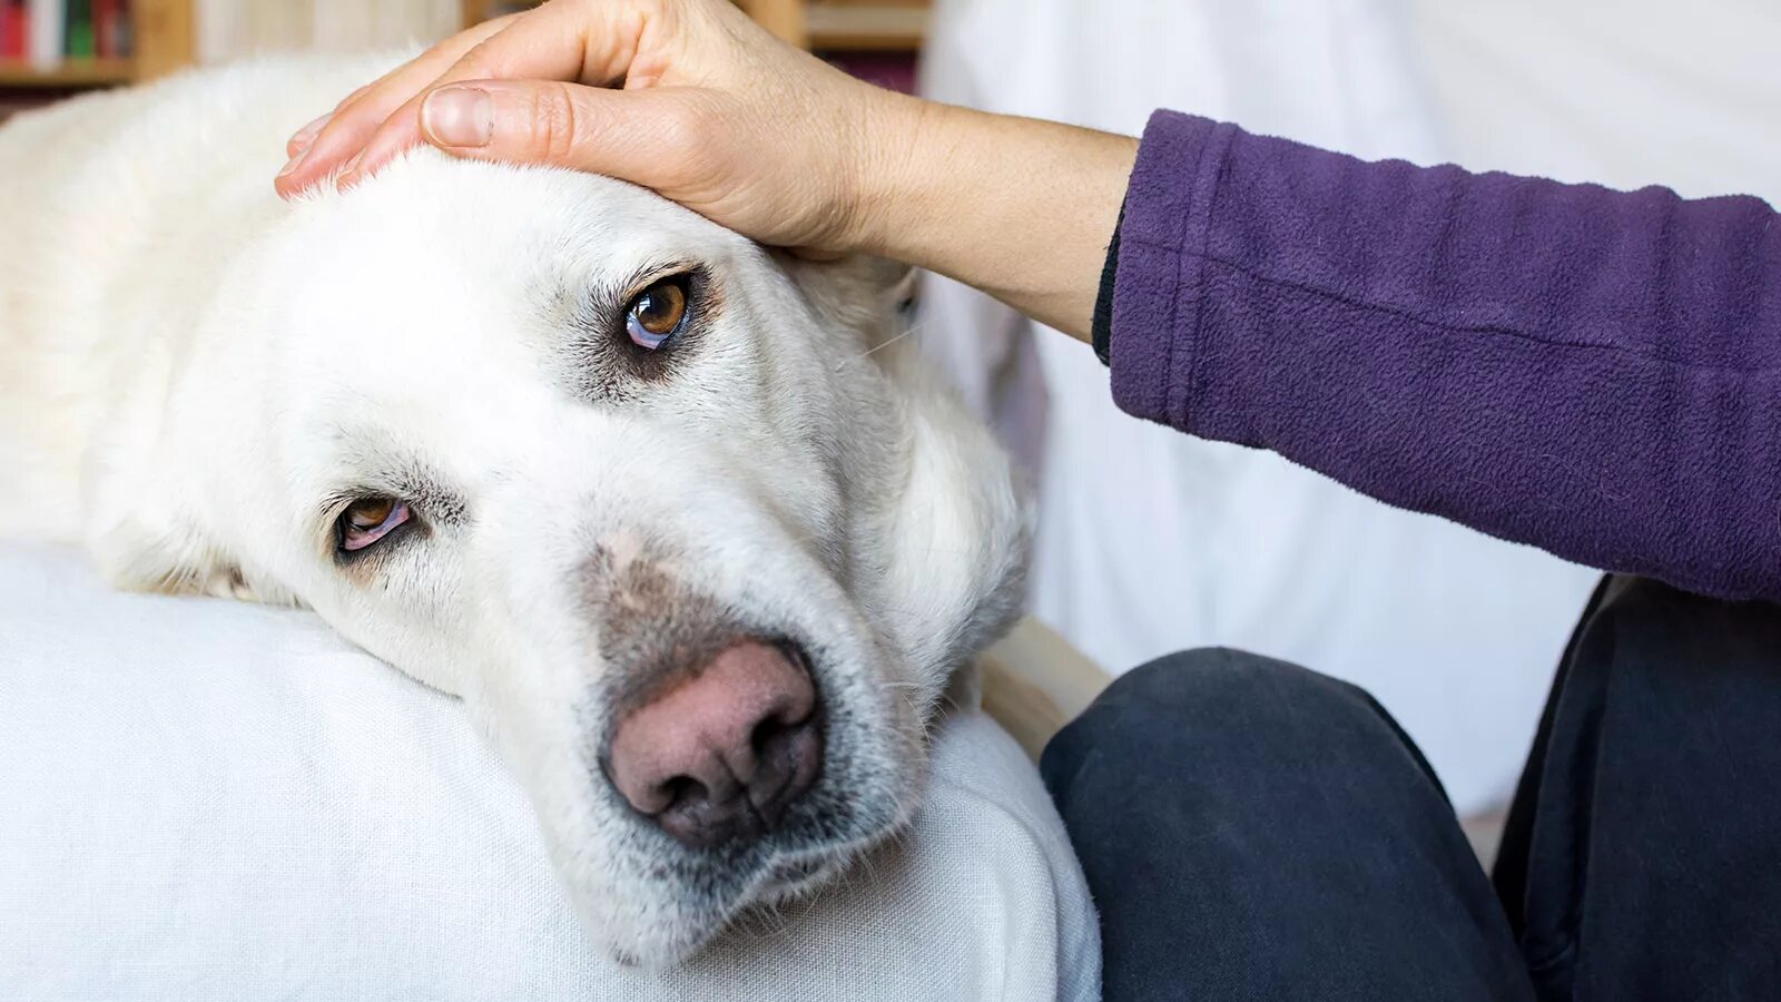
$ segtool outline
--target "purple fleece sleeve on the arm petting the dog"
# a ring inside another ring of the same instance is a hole
[[[1362,162],[1158,112],[1113,396],[1569,560],[1781,599],[1774,223],[1756,198]]]

